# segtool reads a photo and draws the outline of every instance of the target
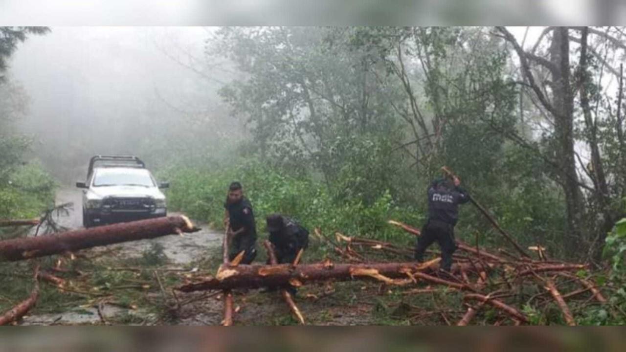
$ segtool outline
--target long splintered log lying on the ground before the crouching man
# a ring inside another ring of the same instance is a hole
[[[469,271],[472,266],[469,264],[454,264],[452,271],[459,270],[459,266],[463,266]],[[478,265],[481,269],[487,271],[489,267]],[[417,262],[399,262],[399,263],[369,263],[369,264],[333,264],[330,261],[319,264],[305,264],[293,266],[292,264],[279,265],[239,265],[237,267],[222,265],[218,269],[215,277],[210,277],[200,282],[186,284],[178,287],[179,291],[192,292],[210,289],[234,289],[234,288],[259,288],[266,286],[285,286],[290,281],[298,281],[302,284],[314,281],[349,281],[352,279],[371,279],[372,273],[391,279],[406,278],[409,274],[429,281],[438,281],[443,284],[454,284],[459,288],[468,288],[463,284],[456,282],[448,282],[436,277],[428,276],[424,272],[436,271],[437,264],[430,267],[423,267]],[[368,275],[356,276],[362,272]]]

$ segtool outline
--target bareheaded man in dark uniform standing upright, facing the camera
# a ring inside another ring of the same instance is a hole
[[[239,182],[232,182],[228,187],[228,197],[224,207],[229,220],[228,242],[230,251],[228,260],[232,261],[245,251],[242,264],[250,264],[257,256],[257,227],[254,223],[252,204],[244,197],[244,190]]]

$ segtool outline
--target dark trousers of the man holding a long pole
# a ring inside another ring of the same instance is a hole
[[[456,251],[454,242],[454,227],[436,220],[430,220],[424,225],[421,236],[418,237],[415,246],[415,259],[424,261],[424,252],[433,242],[437,241],[441,248],[441,269],[450,271],[452,267],[452,254]]]

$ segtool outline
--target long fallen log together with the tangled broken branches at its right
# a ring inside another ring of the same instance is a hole
[[[418,229],[409,225],[395,221],[390,223],[416,236],[420,234]],[[588,276],[587,264],[548,259],[545,249],[541,247],[530,248],[537,254],[536,259],[533,259],[501,249],[496,253],[456,241],[458,251],[453,256],[454,264],[448,273],[439,270],[440,259],[438,253],[433,251],[431,254],[435,259],[420,264],[413,261],[411,247],[347,237],[340,233],[332,239],[322,236],[317,229],[315,234],[331,244],[347,263],[334,263],[326,259],[317,264],[240,265],[235,260],[233,263],[224,262],[215,277],[199,277],[177,287],[177,290],[232,292],[232,289],[239,288],[286,284],[302,286],[309,282],[356,279],[377,281],[381,287],[401,287],[402,294],[434,294],[452,290],[461,293],[462,299],[458,306],[438,306],[436,311],[427,312],[422,309],[421,315],[440,314],[445,323],[459,326],[481,324],[476,317],[485,314],[488,309],[491,310],[492,318],[495,312],[496,325],[531,324],[533,322],[524,308],[543,311],[550,304],[559,309],[565,323],[575,325],[575,315],[570,309],[573,302],[607,304],[607,299]],[[381,261],[381,257],[386,261]],[[389,262],[389,259],[394,261]],[[285,298],[285,302],[300,323],[304,323],[302,312],[294,301]],[[225,313],[228,323],[232,323],[232,312],[228,306],[225,306]]]

